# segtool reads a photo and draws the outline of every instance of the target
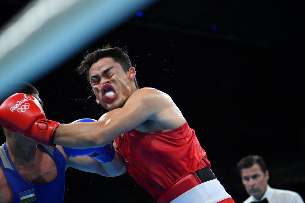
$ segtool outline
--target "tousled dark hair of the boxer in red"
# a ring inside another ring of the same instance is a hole
[[[128,72],[129,68],[132,67],[129,56],[122,48],[111,47],[111,45],[107,44],[92,53],[85,53],[81,64],[77,67],[77,73],[80,75],[86,74],[87,80],[89,81],[89,70],[91,66],[98,60],[106,57],[110,57],[114,62],[120,63],[124,72]],[[134,82],[138,89],[136,77],[134,78]]]

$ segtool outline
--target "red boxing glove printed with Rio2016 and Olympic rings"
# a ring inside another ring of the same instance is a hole
[[[16,93],[0,106],[0,124],[46,145],[53,144],[53,134],[60,125],[45,119],[39,101],[33,96]]]

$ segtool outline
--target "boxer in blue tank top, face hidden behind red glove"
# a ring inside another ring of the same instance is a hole
[[[22,88],[16,87],[13,93],[31,95],[43,106],[34,86],[25,82],[20,84],[23,85]],[[20,108],[19,111],[25,111],[27,105],[23,102],[15,107],[16,110]],[[0,146],[1,203],[63,202],[65,170],[70,166],[108,177],[126,171],[124,162],[113,148],[74,150],[59,145],[47,146],[7,126],[0,125],[0,130],[6,136],[6,142]],[[105,162],[111,164],[103,164]],[[121,167],[117,167],[118,165]]]

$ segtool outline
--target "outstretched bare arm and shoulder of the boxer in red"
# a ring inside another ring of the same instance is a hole
[[[161,131],[174,129],[185,122],[168,95],[144,88],[134,92],[122,108],[105,113],[97,122],[60,125],[54,144],[75,149],[105,146],[147,120],[157,122]]]

